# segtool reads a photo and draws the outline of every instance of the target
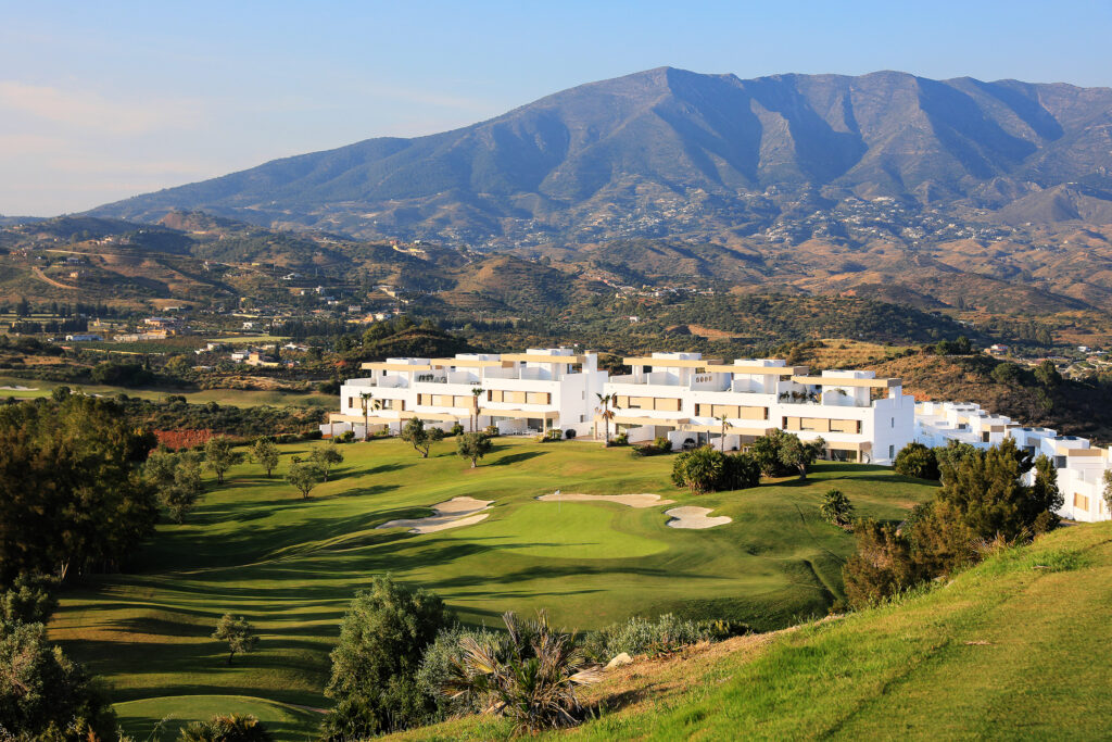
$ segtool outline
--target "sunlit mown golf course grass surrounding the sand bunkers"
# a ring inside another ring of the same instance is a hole
[[[280,469],[311,445],[319,444],[284,446]],[[394,439],[342,451],[347,461],[310,499],[255,465],[237,467],[186,524],[159,527],[138,572],[64,596],[53,636],[108,681],[129,732],[188,708],[182,696],[226,696],[229,711],[240,702],[232,696],[327,706],[321,690],[339,620],[377,573],[436,591],[473,624],[539,607],[578,629],[667,611],[762,630],[823,615],[841,595],[853,540],[818,518],[822,493],[837,486],[858,513],[881,518],[901,518],[932,494],[881,467],[822,464],[806,483],[696,498],[671,485],[669,456],[635,459],[580,442],[499,438],[476,469],[450,439],[428,459]],[[681,531],[666,527],[667,505],[534,499],[556,488],[655,492],[734,522]],[[489,517],[426,535],[375,528],[459,495],[494,499]],[[209,639],[227,611],[261,635],[259,651],[230,666]],[[285,739],[298,739],[314,722],[282,723]]]

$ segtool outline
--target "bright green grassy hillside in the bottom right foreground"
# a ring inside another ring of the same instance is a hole
[[[588,693],[599,718],[568,736],[1106,739],[1110,611],[1112,524],[1066,527],[891,605],[608,673]]]

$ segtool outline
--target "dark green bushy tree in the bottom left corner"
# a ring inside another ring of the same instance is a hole
[[[0,730],[44,742],[117,736],[108,700],[41,623],[0,622]]]

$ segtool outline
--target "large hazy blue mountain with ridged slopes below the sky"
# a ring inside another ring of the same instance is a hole
[[[1104,88],[659,68],[455,131],[275,160],[96,212],[202,208],[470,241],[744,230],[850,195],[997,208],[1065,182],[1112,189],[1110,123]]]

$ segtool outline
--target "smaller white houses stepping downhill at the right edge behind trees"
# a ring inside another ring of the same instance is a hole
[[[1085,522],[1112,517],[1103,497],[1104,472],[1112,468],[1112,448],[1093,447],[1088,438],[1059,435],[1045,427],[1024,427],[970,403],[923,402],[915,406],[915,441],[923,445],[944,446],[959,441],[989,448],[1005,437],[1014,438],[1032,456],[1044,454],[1054,463],[1058,487],[1065,499],[1059,515]],[[1029,474],[1029,484],[1033,476]]]

